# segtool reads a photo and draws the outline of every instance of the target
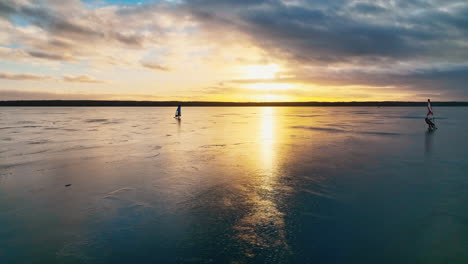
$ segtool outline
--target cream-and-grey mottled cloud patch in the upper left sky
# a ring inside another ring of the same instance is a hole
[[[105,62],[116,49],[143,48],[162,40],[159,20],[148,20],[156,13],[138,20],[136,14],[118,14],[120,9],[87,9],[79,1],[6,0],[0,5],[0,20],[3,17],[14,25],[8,34],[17,50],[55,61]]]

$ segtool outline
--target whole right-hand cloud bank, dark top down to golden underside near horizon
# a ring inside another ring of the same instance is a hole
[[[437,1],[265,0],[236,8],[210,2],[188,2],[198,21],[220,34],[224,27],[249,36],[295,76],[272,83],[393,86],[467,98],[465,1],[444,9]]]

